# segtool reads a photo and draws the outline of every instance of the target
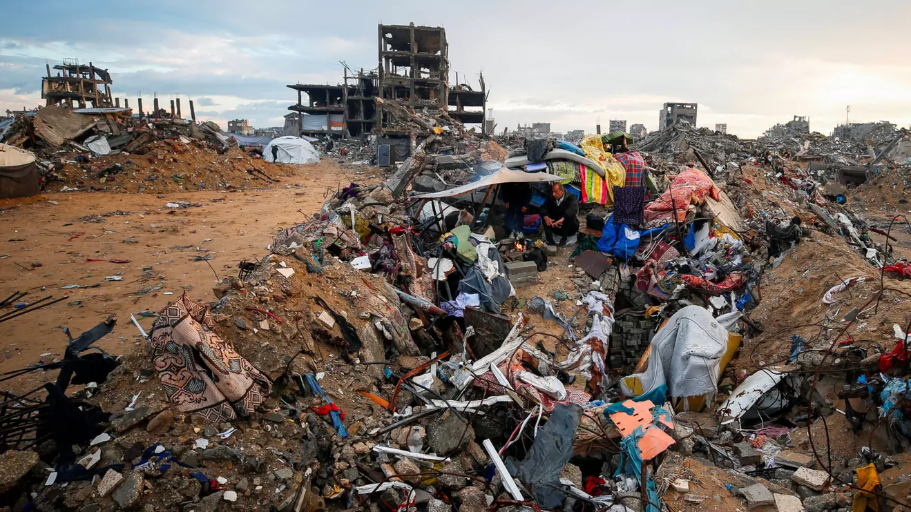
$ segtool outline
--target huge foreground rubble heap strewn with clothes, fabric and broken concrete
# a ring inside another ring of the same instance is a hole
[[[54,384],[7,397],[0,467],[22,469],[0,471],[0,507],[911,506],[911,265],[820,176],[675,125],[642,143],[665,176],[641,220],[599,199],[548,246],[534,222],[506,236],[494,191],[577,156],[609,180],[598,141],[507,158],[378,104],[416,134],[383,185],[344,186],[213,296],[135,320],[143,348],[83,355],[104,323],[39,368]]]

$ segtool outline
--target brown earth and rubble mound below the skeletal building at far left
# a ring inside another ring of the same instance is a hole
[[[43,190],[230,190],[272,185],[293,171],[242,151],[213,123],[140,119],[116,107],[29,111],[0,142],[35,153]]]

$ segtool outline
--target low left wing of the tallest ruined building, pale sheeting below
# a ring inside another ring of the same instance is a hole
[[[289,110],[300,114],[299,132],[303,136],[342,136],[344,131],[344,87],[342,85],[295,84],[297,105]]]

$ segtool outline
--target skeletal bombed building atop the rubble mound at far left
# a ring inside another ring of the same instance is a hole
[[[76,59],[64,59],[62,65],[55,65],[56,74],[52,74],[50,65],[46,66],[47,76],[41,80],[41,97],[46,100],[46,106],[113,106],[111,75],[107,69],[92,63],[80,65]]]

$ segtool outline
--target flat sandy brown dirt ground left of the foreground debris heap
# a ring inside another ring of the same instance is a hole
[[[381,177],[374,167],[326,161],[284,167],[293,175],[262,190],[48,193],[0,203],[0,298],[17,290],[28,292],[17,303],[67,296],[0,323],[0,372],[61,357],[62,327],[77,336],[111,313],[118,326],[99,346],[127,353],[139,343],[130,313],[148,329],[152,319],[139,314],[158,312],[184,291],[211,302],[216,275],[234,275],[241,260],[266,254],[279,228],[317,212],[330,189],[348,185],[347,176],[362,184]],[[200,206],[165,206],[180,201]],[[93,287],[62,289],[69,285]]]

